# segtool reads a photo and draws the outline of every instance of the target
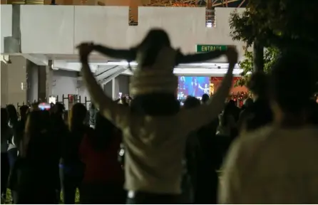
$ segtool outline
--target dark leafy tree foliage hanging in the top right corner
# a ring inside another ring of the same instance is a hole
[[[231,14],[230,34],[233,40],[247,43],[247,48],[255,41],[267,48],[264,70],[268,71],[277,53],[287,47],[318,56],[317,11],[318,1],[250,0],[245,11]],[[237,85],[245,85],[254,60],[252,52],[246,50],[245,60],[240,62],[242,79]]]

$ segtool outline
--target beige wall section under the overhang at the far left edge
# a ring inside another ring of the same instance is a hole
[[[11,56],[11,64],[1,62],[1,106],[26,102],[26,58]]]

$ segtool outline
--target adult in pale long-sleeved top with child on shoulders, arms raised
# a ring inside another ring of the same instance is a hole
[[[91,99],[101,115],[123,130],[128,202],[178,203],[185,141],[190,132],[207,125],[224,107],[237,63],[237,51],[229,46],[225,52],[183,55],[170,47],[168,34],[160,29],[151,30],[140,45],[130,50],[120,51],[91,43],[82,43],[78,48],[83,80]],[[138,68],[130,80],[130,94],[134,96],[131,107],[118,105],[103,93],[88,64],[88,55],[93,50],[138,61]],[[229,70],[212,100],[207,105],[180,110],[176,99],[178,78],[173,75],[173,67],[193,59],[195,62],[207,61],[197,57],[216,58],[222,54],[229,59]]]

